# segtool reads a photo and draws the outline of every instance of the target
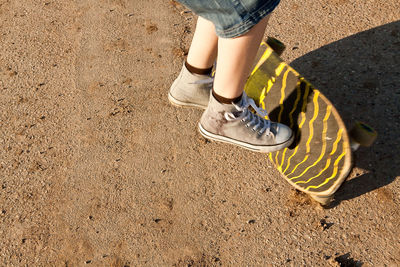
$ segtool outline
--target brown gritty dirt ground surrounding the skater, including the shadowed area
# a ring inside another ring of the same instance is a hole
[[[0,0],[1,266],[400,266],[397,0],[282,0],[266,35],[379,131],[329,209],[167,100],[169,0]]]

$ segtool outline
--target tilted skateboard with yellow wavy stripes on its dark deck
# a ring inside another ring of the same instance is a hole
[[[352,169],[352,149],[372,145],[377,133],[361,122],[347,131],[329,99],[280,58],[283,50],[277,39],[261,43],[245,91],[268,119],[294,131],[293,144],[269,160],[296,189],[328,205]]]

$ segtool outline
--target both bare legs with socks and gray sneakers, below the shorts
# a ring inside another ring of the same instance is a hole
[[[237,105],[231,104],[243,94],[267,22],[268,17],[244,35],[224,39],[217,37],[211,22],[198,19],[187,64],[172,84],[168,99],[177,106],[205,108],[199,122],[205,138],[259,152],[283,149],[293,141],[289,127],[260,117],[262,110],[249,98],[242,97]],[[198,72],[209,69],[216,56],[217,70],[212,81],[208,74]],[[212,95],[211,87],[214,87]],[[257,114],[249,111],[251,105]]]

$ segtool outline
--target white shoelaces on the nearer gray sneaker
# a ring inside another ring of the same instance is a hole
[[[241,104],[236,105],[233,103],[233,105],[240,112],[240,115],[237,116],[231,112],[226,112],[225,119],[228,121],[242,120],[243,122],[247,122],[246,127],[253,127],[252,130],[259,135],[264,133],[269,135],[271,133],[271,121],[264,119],[265,116],[268,116],[268,112],[263,108],[257,107],[254,100],[249,98],[245,92],[243,92]],[[249,110],[250,106],[259,116]]]

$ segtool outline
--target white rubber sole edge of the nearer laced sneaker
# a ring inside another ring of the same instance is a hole
[[[284,149],[284,148],[290,146],[294,140],[294,135],[292,132],[291,137],[286,142],[283,142],[283,143],[277,144],[277,145],[271,145],[271,146],[258,146],[258,145],[252,145],[252,144],[248,144],[248,143],[245,143],[242,141],[238,141],[238,140],[235,140],[235,139],[232,139],[229,137],[225,137],[222,135],[216,135],[216,134],[210,133],[207,130],[205,130],[203,128],[203,126],[201,126],[200,123],[199,123],[199,131],[200,131],[200,134],[207,139],[237,145],[242,148],[246,148],[248,150],[255,151],[255,152],[261,152],[261,153],[269,153],[269,152],[274,152],[274,151]]]

